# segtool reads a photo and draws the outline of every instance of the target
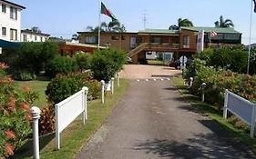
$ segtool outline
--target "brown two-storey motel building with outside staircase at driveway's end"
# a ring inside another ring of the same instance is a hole
[[[204,48],[218,45],[241,45],[241,33],[233,28],[180,27],[179,30],[146,29],[138,32],[103,32],[100,45],[123,49],[134,64],[145,61],[148,53],[169,53],[173,60],[181,55],[191,57],[197,53],[197,39],[204,31]],[[211,33],[215,33],[211,36]],[[77,32],[80,44],[97,45],[96,32]]]

